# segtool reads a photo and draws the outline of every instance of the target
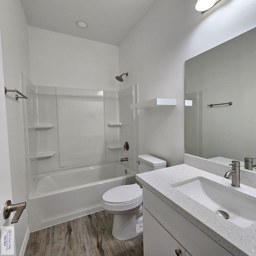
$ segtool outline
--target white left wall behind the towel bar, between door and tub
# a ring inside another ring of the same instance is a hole
[[[0,31],[3,53],[4,83],[8,89],[20,89],[20,71],[30,76],[28,24],[19,0],[0,2]],[[26,165],[22,100],[15,100],[14,93],[6,96],[10,168],[12,180],[12,202],[27,200]],[[8,198],[6,198],[8,200]],[[15,224],[16,252],[20,254],[22,242],[28,228],[27,211]]]

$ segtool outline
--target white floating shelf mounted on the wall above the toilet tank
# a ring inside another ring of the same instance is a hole
[[[158,108],[164,106],[176,106],[176,99],[163,99],[156,98],[153,100],[147,100],[135,104],[131,104],[131,109],[147,109],[147,108]]]

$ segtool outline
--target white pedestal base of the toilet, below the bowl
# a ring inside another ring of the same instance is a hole
[[[117,240],[129,240],[143,232],[142,205],[137,214],[114,215],[112,235]]]

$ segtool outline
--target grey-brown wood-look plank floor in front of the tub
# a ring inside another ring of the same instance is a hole
[[[143,235],[118,241],[112,223],[101,211],[33,232],[25,256],[143,256]]]

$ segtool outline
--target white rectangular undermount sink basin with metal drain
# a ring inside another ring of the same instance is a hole
[[[256,221],[256,201],[216,182],[200,177],[173,187],[213,212],[228,213],[227,220],[241,228],[248,228]]]

